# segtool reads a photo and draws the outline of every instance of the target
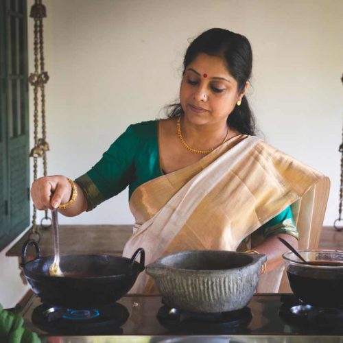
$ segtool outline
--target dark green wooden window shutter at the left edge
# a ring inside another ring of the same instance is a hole
[[[1,59],[5,70],[1,128],[0,249],[29,226],[29,121],[27,86],[26,0],[0,0],[5,39]],[[2,193],[2,194],[1,194]],[[2,213],[2,214],[1,214]]]

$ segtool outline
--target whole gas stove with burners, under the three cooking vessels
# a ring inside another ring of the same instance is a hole
[[[89,336],[94,335],[106,336],[104,342],[134,342],[140,336],[149,338],[146,342],[170,342],[171,338],[175,342],[191,338],[220,342],[218,338],[233,337],[240,338],[238,342],[279,342],[276,336],[282,342],[293,342],[299,335],[302,342],[313,342],[311,338],[318,335],[320,342],[336,342],[338,336],[343,337],[342,312],[332,318],[334,311],[327,309],[331,324],[320,326],[318,320],[323,319],[311,322],[308,318],[314,315],[307,310],[322,312],[298,303],[292,294],[256,294],[244,309],[204,315],[171,309],[161,296],[142,295],[123,296],[103,309],[67,310],[42,304],[32,294],[17,307],[25,327],[47,342],[56,342],[56,336],[60,337],[58,342],[91,342]]]

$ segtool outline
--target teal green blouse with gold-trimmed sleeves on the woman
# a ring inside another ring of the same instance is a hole
[[[143,183],[162,176],[158,154],[158,121],[130,125],[86,174],[75,180],[84,191],[87,211],[129,187],[129,198]],[[268,237],[288,233],[298,238],[292,211],[287,209],[263,224]]]

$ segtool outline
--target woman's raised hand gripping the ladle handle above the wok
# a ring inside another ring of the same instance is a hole
[[[31,196],[36,209],[52,210],[57,209],[60,204],[69,202],[71,191],[71,184],[66,176],[44,176],[32,184]]]

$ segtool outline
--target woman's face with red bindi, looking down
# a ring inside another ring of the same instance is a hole
[[[180,86],[185,119],[198,125],[226,122],[246,88],[238,93],[237,81],[222,58],[199,54],[187,66]]]

